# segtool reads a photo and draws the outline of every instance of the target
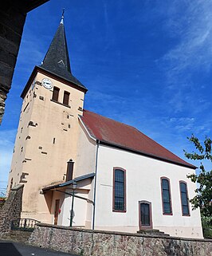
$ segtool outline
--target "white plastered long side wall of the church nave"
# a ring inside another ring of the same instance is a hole
[[[127,212],[112,211],[113,167],[126,170]],[[132,152],[100,145],[97,167],[95,228],[136,232],[139,230],[139,201],[151,202],[152,223],[173,236],[202,238],[198,210],[182,216],[179,180],[188,186],[189,198],[194,197],[195,184],[186,178],[194,170],[173,163],[154,160]],[[173,215],[163,215],[160,178],[166,176],[171,183]]]

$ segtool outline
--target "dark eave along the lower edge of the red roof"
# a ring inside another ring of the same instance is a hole
[[[99,139],[96,139],[96,140],[99,140]],[[169,160],[167,158],[163,158],[163,157],[160,157],[160,156],[155,156],[155,155],[147,153],[147,152],[137,151],[135,149],[124,147],[124,146],[119,145],[119,144],[112,144],[111,142],[108,142],[108,141],[105,141],[105,140],[99,140],[99,141],[100,141],[100,144],[112,146],[114,148],[124,149],[124,150],[126,150],[128,152],[137,153],[137,154],[143,155],[143,156],[149,156],[149,157],[154,158],[156,160],[162,160],[162,161],[167,162],[167,163],[175,163],[177,165],[180,165],[180,166],[183,166],[183,167],[189,167],[190,169],[194,169],[194,170],[196,168],[198,168],[198,167],[196,167],[196,166],[194,166],[193,164],[190,164],[190,163],[187,163],[187,164],[186,163],[179,163],[179,162],[174,161],[174,160]]]

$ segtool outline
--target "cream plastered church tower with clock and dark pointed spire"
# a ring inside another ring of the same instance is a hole
[[[67,180],[67,162],[76,158],[78,115],[87,89],[73,77],[62,16],[45,58],[22,92],[22,111],[8,190],[24,183],[22,218],[49,222],[41,188]]]

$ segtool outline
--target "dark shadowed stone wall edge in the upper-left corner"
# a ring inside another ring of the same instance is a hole
[[[21,3],[19,4],[21,6]],[[5,109],[6,94],[11,87],[18,49],[26,12],[18,8],[14,1],[1,2],[0,8],[0,124]]]

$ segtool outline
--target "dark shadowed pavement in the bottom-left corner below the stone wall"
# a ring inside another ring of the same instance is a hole
[[[46,250],[43,248],[28,246],[24,243],[0,240],[1,256],[77,256],[65,254],[59,251]]]

